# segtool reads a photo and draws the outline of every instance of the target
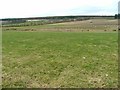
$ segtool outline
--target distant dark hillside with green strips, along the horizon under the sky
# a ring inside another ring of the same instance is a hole
[[[3,26],[29,26],[29,25],[43,25],[60,22],[82,21],[89,19],[114,19],[115,16],[51,16],[51,17],[30,17],[30,18],[6,18],[0,19]]]

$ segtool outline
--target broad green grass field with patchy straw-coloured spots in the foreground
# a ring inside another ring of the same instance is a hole
[[[39,29],[47,27],[35,27],[33,32],[3,31],[3,87],[117,87],[117,32],[58,32],[53,27],[45,32]]]

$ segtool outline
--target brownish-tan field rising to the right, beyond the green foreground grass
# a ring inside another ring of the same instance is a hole
[[[47,25],[3,27],[4,31],[59,31],[59,32],[113,32],[117,31],[115,19],[91,19]]]

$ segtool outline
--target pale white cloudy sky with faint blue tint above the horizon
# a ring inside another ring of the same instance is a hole
[[[119,0],[0,0],[0,18],[114,15]]]

